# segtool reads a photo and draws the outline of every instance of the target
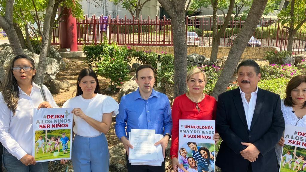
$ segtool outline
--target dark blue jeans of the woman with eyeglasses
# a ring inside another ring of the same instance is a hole
[[[41,162],[36,163],[35,165],[25,166],[20,160],[10,154],[6,148],[3,149],[2,162],[4,168],[8,172],[48,172],[49,162]]]

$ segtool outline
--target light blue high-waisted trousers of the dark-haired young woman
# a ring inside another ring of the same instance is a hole
[[[74,172],[108,171],[109,159],[104,133],[93,138],[74,136],[71,156]]]

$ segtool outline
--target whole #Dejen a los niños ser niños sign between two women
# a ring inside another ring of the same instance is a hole
[[[33,152],[36,162],[71,159],[71,108],[34,109]]]

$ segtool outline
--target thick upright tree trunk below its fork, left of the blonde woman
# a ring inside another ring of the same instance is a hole
[[[187,44],[185,12],[172,18],[174,43],[174,97],[185,94],[187,75]]]

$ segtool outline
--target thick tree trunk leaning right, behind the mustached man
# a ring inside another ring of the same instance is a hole
[[[224,68],[212,92],[212,96],[216,99],[218,99],[219,94],[226,90],[230,78],[233,76],[239,59],[256,29],[259,18],[262,16],[267,2],[268,0],[253,1],[248,17],[230,49]]]

